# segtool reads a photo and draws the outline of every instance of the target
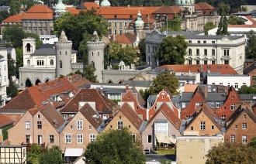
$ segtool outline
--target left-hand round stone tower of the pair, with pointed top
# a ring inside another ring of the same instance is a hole
[[[55,43],[56,48],[56,77],[66,76],[71,73],[71,51],[72,42],[67,40],[64,31],[61,32],[59,41]]]

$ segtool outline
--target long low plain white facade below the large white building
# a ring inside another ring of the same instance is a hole
[[[223,75],[208,75],[207,84],[233,86],[236,90],[240,87],[251,86],[251,77],[249,75],[240,74],[223,74]]]

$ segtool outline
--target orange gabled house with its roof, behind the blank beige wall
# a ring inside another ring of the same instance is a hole
[[[183,135],[214,136],[222,134],[223,128],[223,121],[217,118],[213,109],[203,103],[192,117],[186,120]]]

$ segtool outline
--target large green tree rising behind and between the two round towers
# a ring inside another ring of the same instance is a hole
[[[78,47],[82,40],[90,40],[90,34],[95,30],[98,32],[99,37],[106,35],[108,33],[107,28],[108,24],[106,20],[97,15],[95,10],[80,12],[77,16],[66,12],[54,22],[55,34],[59,36],[61,31],[64,30],[67,38],[72,40],[74,50],[79,50]],[[85,44],[85,42],[83,42],[83,44]]]

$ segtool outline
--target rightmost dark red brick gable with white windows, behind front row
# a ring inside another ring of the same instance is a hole
[[[239,94],[234,89],[234,87],[230,87],[228,90],[228,95],[226,101],[220,108],[216,108],[214,113],[217,117],[222,118],[223,120],[227,120],[230,118],[230,115],[233,114],[237,106],[241,103]]]

